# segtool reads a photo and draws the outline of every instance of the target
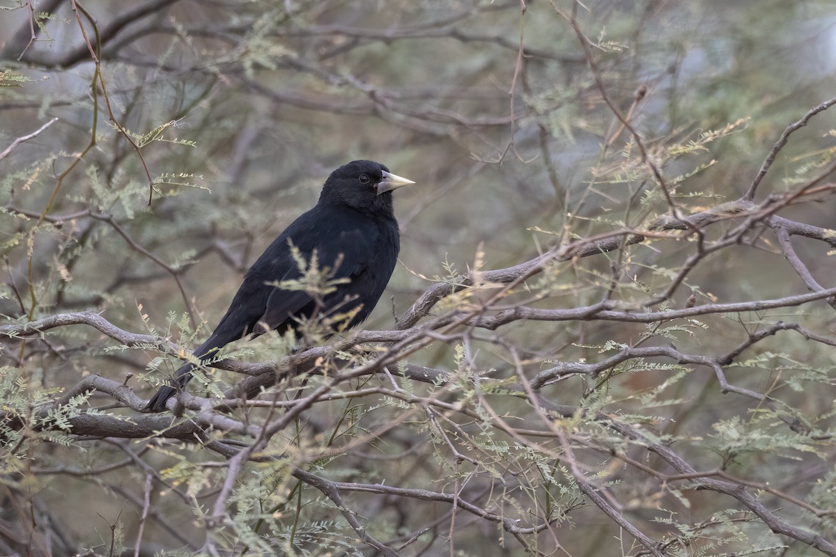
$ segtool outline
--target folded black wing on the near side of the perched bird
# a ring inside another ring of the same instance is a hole
[[[364,271],[370,259],[374,256],[378,232],[374,226],[357,226],[339,231],[331,229],[331,232],[322,235],[308,234],[301,239],[300,244],[296,247],[300,255],[308,261],[308,265],[310,265],[315,253],[319,270],[329,269],[330,281],[339,281],[340,279],[351,281],[353,277]],[[289,269],[284,274],[284,278],[279,280],[299,278],[303,273],[298,269],[297,261],[291,256],[289,248],[286,253],[293,268]],[[324,303],[324,306],[319,309],[335,309],[332,307],[336,305],[334,301],[339,300],[341,302],[344,296],[351,291],[350,285],[345,283],[338,283],[335,288],[336,291],[320,301]],[[349,302],[340,310],[348,311],[350,307]],[[309,317],[314,315],[317,310],[317,301],[308,292],[289,291],[273,287],[268,296],[267,308],[260,321],[271,329],[275,329],[289,324],[293,317]]]

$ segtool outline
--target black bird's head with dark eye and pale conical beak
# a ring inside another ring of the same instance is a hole
[[[377,215],[394,215],[392,190],[415,184],[392,174],[385,165],[371,160],[354,160],[331,173],[319,202],[342,203]]]

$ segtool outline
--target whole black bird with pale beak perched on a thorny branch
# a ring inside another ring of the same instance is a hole
[[[194,352],[195,357],[206,360],[227,343],[267,328],[286,332],[318,311],[323,316],[348,314],[345,328],[362,322],[395,270],[400,233],[391,191],[408,184],[415,182],[370,160],[355,160],[334,170],[314,208],[294,220],[249,268],[227,314]],[[306,291],[278,288],[278,281],[303,274],[292,249],[306,261],[315,254],[320,269],[329,267],[332,279],[347,281],[336,284],[320,301]],[[351,311],[356,311],[353,316]],[[191,379],[193,369],[193,364],[186,363],[177,370],[179,388]],[[145,409],[165,410],[176,388],[161,387]]]

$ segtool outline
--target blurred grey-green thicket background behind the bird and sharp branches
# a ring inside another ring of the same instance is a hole
[[[314,205],[331,170],[355,159],[417,182],[395,194],[401,264],[368,329],[395,327],[395,315],[435,280],[477,260],[486,270],[512,266],[559,242],[646,226],[665,212],[665,200],[595,82],[567,21],[572,13],[609,100],[630,115],[683,214],[739,198],[782,130],[836,92],[832,0],[6,0],[0,151],[57,120],[0,158],[0,313],[11,322],[92,309],[131,332],[193,346],[226,310],[247,266]],[[88,41],[97,37],[99,52],[91,53]],[[828,168],[833,114],[793,135],[756,201]],[[832,202],[782,215],[833,226]],[[620,299],[664,291],[671,276],[660,269],[679,268],[693,249],[684,244],[635,246],[624,256],[632,280],[619,285]],[[826,246],[796,247],[829,287]],[[543,306],[599,300],[614,257],[566,264]],[[701,261],[671,303],[683,306],[692,292],[706,303],[803,291],[774,242],[762,238]],[[832,323],[826,311],[793,318],[823,333]],[[501,335],[540,361],[558,348],[567,361],[599,358],[599,344],[635,341],[643,331],[613,322],[517,325]],[[678,346],[733,346],[727,336],[739,323],[717,316],[712,326],[712,337],[686,335]],[[166,360],[148,370],[152,354],[104,352],[113,343],[90,338],[68,328],[25,354],[10,345],[3,357],[11,366],[28,362],[43,387],[88,373],[121,380],[148,372],[160,382],[175,366]],[[782,347],[805,366],[832,360],[820,345]],[[450,354],[436,347],[415,361],[451,367]],[[494,360],[491,352],[477,356],[486,369]],[[760,392],[772,372],[740,380]],[[661,377],[630,376],[619,387]],[[150,396],[153,386],[133,381]],[[693,404],[666,416],[693,418],[710,433],[711,423],[746,414],[716,385],[713,400],[701,398],[705,387],[704,379],[686,384],[679,395]],[[581,390],[562,387],[554,396],[577,403]],[[804,400],[811,413],[826,413],[832,392],[819,394],[815,402],[791,393],[788,403]],[[701,418],[693,417],[697,405]],[[781,466],[776,477],[788,477]],[[431,478],[431,469],[422,473]],[[803,470],[824,475],[812,464]],[[67,481],[45,500],[60,505],[87,493],[120,508],[104,492]],[[199,538],[185,518],[186,537]],[[64,519],[82,545],[97,543],[99,534],[81,524],[90,517]],[[130,531],[133,519],[123,519]],[[602,540],[613,524],[589,519],[565,534],[568,554],[620,554]],[[171,533],[155,532],[159,547],[176,544]],[[523,554],[493,539],[482,548],[483,530],[461,535],[476,544],[467,554]]]

